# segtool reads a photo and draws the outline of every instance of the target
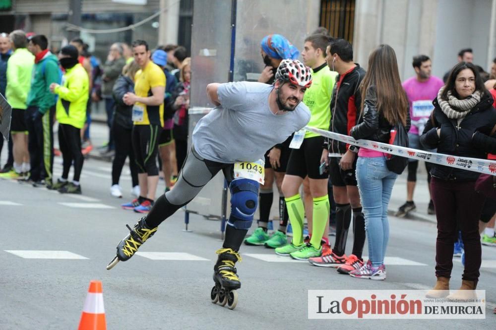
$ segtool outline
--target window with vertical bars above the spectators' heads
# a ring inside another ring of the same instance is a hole
[[[355,0],[320,1],[320,26],[327,28],[331,37],[353,43],[354,24]]]

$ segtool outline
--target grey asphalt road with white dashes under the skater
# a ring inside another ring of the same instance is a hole
[[[60,164],[57,158],[56,177]],[[139,218],[119,207],[131,199],[129,175],[124,173],[121,182],[124,198],[115,199],[109,192],[110,164],[91,159],[84,164],[81,184],[82,196],[67,196],[0,180],[0,329],[76,329],[92,279],[103,282],[108,329],[496,328],[496,248],[485,246],[478,286],[486,290],[485,320],[308,319],[310,289],[430,288],[435,282],[432,222],[390,218],[387,256],[394,258],[386,260],[385,281],[355,279],[307,262],[280,262],[289,261],[282,257],[264,261],[273,250],[243,246],[243,262],[237,265],[242,288],[238,306],[231,311],[209,298],[215,250],[221,247],[219,221],[192,215],[193,231],[185,232],[184,213],[179,211],[139,252],[183,260],[139,255],[107,271],[117,243],[127,233],[125,224]],[[352,240],[350,234],[347,252]],[[71,254],[40,259],[43,255],[32,251]],[[461,273],[461,263],[455,260],[452,288],[460,285]]]

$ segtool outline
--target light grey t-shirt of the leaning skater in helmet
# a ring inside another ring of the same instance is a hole
[[[274,87],[258,82],[221,84],[220,106],[201,118],[193,130],[193,145],[204,159],[220,163],[255,162],[310,121],[309,108],[274,114],[268,98]]]

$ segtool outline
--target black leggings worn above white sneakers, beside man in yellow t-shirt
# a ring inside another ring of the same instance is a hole
[[[129,156],[132,186],[138,185],[138,165],[132,150],[132,129],[124,128],[114,122],[112,136],[115,143],[116,155],[112,163],[112,185],[119,184],[119,178],[124,167],[125,159]]]

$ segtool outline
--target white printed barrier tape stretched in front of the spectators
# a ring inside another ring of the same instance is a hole
[[[305,126],[305,129],[333,140],[338,140],[347,144],[352,144],[357,147],[364,147],[367,149],[376,150],[386,154],[411,158],[438,165],[445,165],[454,168],[466,169],[477,173],[496,175],[496,161],[438,154],[438,153],[428,152],[425,150],[399,147],[387,143],[375,142],[369,140],[355,140],[353,137],[348,135],[333,133],[310,126]]]

